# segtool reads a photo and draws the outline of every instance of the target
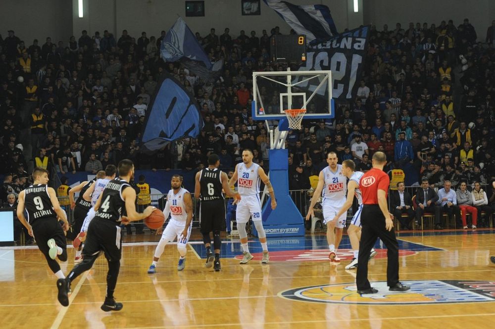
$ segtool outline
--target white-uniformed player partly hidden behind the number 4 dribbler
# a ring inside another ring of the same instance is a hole
[[[81,244],[86,240],[86,232],[88,231],[88,227],[95,218],[96,211],[95,211],[95,205],[98,202],[99,196],[101,193],[103,193],[103,190],[105,189],[106,184],[111,181],[112,179],[115,178],[115,174],[117,172],[117,167],[114,166],[113,164],[108,164],[105,168],[105,178],[99,178],[91,184],[91,186],[84,192],[83,198],[86,200],[91,199],[91,208],[88,211],[88,214],[86,215],[86,218],[84,218],[83,226],[81,227],[81,232],[77,235],[77,237],[74,239],[72,242],[72,245],[74,248],[77,249],[76,251],[76,261],[75,262],[81,262],[81,253],[82,253],[82,246]]]

